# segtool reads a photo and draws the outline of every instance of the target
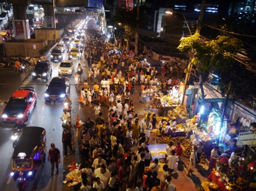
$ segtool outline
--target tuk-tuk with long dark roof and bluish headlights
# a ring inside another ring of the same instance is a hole
[[[14,181],[26,184],[32,181],[46,158],[46,131],[42,127],[25,127],[21,130],[13,151],[12,173]]]

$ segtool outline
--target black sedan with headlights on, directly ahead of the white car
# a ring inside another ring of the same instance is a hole
[[[45,91],[46,101],[64,100],[65,96],[70,92],[69,78],[66,77],[54,77],[49,83],[48,88]]]

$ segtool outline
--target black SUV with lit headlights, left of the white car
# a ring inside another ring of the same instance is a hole
[[[52,75],[52,63],[49,60],[41,60],[35,66],[32,73],[32,79],[46,79],[48,81],[49,76]]]

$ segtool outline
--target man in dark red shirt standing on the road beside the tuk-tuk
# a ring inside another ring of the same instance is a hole
[[[48,161],[51,163],[51,174],[50,176],[53,176],[54,172],[54,164],[56,164],[56,171],[59,171],[59,163],[60,163],[60,151],[55,147],[55,144],[51,144],[51,149],[49,150],[48,154]]]

